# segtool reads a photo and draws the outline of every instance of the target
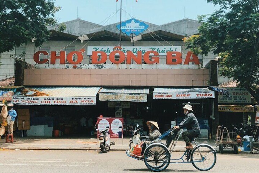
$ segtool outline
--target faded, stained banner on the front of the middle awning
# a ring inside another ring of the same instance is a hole
[[[100,101],[147,102],[147,94],[100,92]]]

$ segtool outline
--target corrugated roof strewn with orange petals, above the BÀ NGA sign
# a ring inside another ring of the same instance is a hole
[[[30,87],[14,96],[28,97],[87,97],[96,96],[101,87]]]

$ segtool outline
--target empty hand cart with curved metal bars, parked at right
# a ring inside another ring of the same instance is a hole
[[[224,127],[223,130],[221,130],[221,126],[218,126],[214,141],[215,144],[219,146],[219,153],[223,153],[224,149],[234,149],[234,153],[238,154],[236,130],[228,130],[227,127]]]

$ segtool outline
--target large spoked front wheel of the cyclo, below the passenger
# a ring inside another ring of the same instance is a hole
[[[155,144],[144,153],[145,165],[151,171],[163,171],[170,164],[170,152],[164,145]]]

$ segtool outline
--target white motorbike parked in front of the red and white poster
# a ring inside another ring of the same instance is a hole
[[[109,128],[106,128],[102,131],[99,131],[96,129],[96,131],[99,131],[99,142],[100,142],[100,148],[101,151],[104,153],[105,151],[110,151],[110,134],[108,132]]]

